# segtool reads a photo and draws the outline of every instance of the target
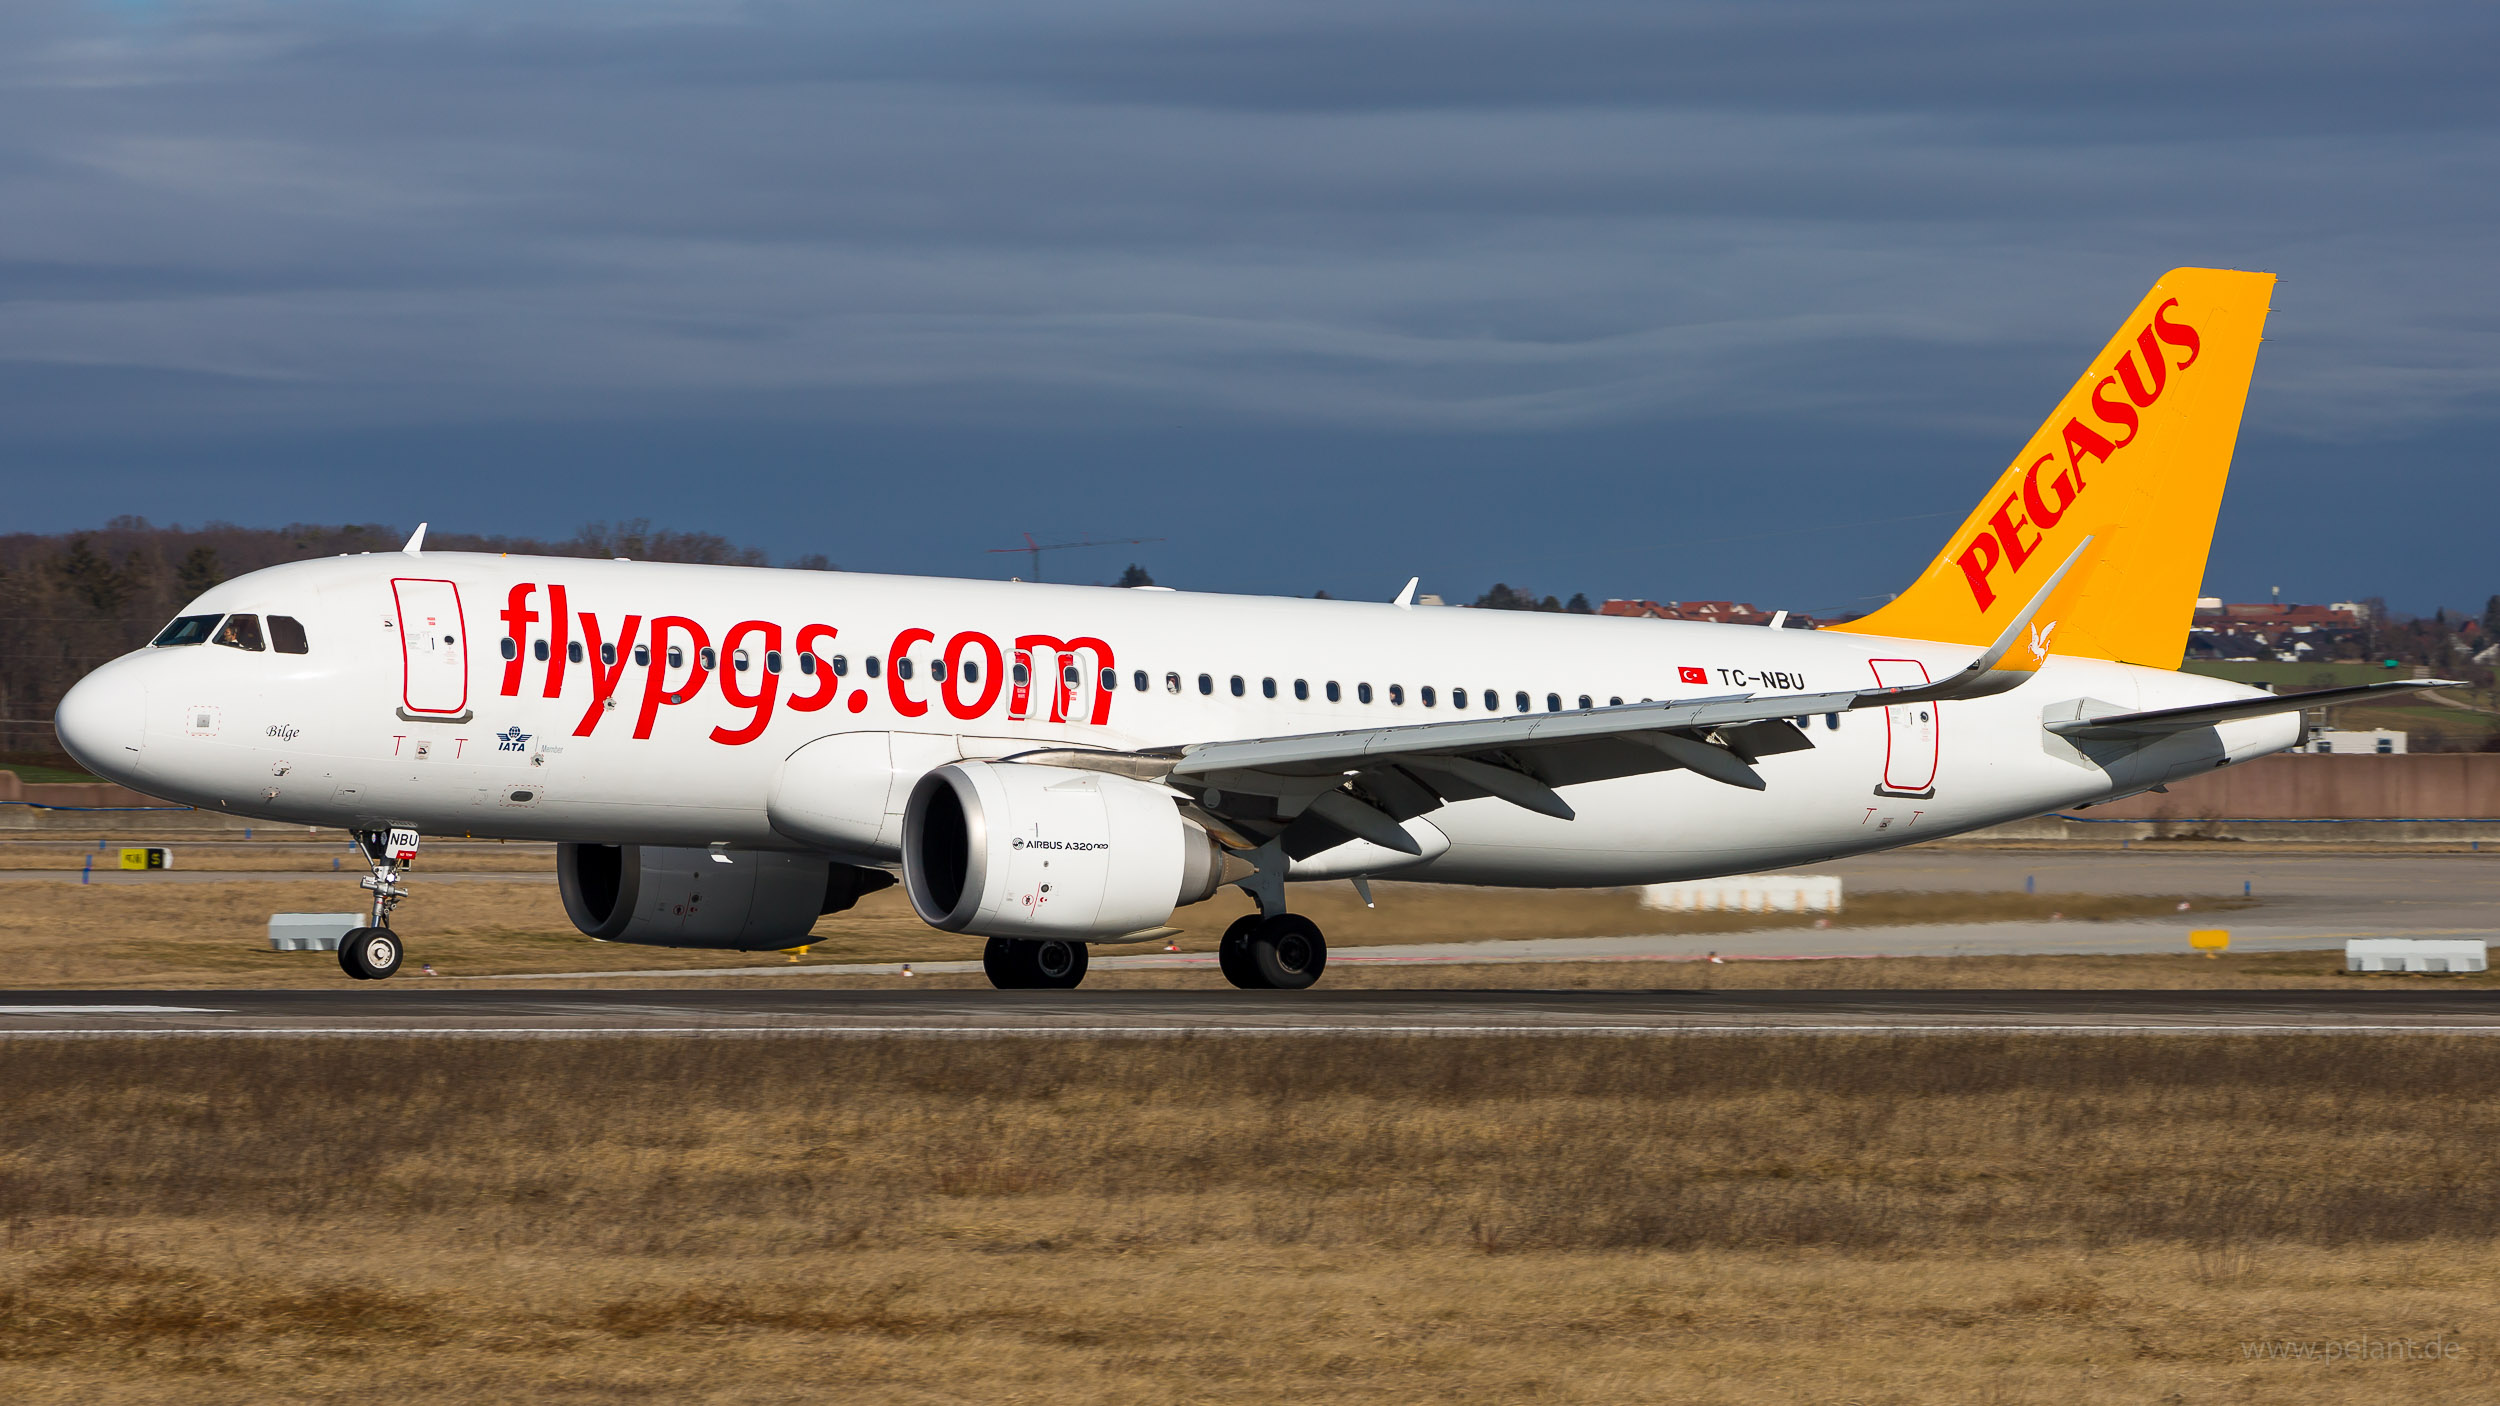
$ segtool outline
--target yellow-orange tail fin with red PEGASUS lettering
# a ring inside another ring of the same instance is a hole
[[[1910,590],[1832,628],[1985,645],[2098,538],[2058,590],[2050,648],[2178,668],[2272,288],[2165,273]]]

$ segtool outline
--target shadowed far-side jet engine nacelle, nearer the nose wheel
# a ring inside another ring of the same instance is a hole
[[[555,846],[565,916],[608,943],[778,951],[895,878],[780,851]]]

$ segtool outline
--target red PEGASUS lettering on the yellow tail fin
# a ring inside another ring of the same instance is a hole
[[[2092,483],[2082,473],[2085,460],[2092,460],[2092,470],[2100,473],[2118,450],[2132,445],[2135,435],[2142,433],[2142,410],[2150,410],[2162,398],[2170,373],[2195,365],[2202,340],[2195,335],[2195,328],[2168,315],[2178,305],[2180,300],[2172,298],[2152,310],[2152,320],[2135,333],[2135,348],[2120,355],[2118,365],[2092,383],[2092,423],[2085,423],[2082,415],[2068,415],[2065,428],[2058,433],[2062,448],[2035,458],[2022,470],[2022,488],[2008,493],[2005,503],[1998,503],[1998,510],[1990,513],[1988,525],[1955,555],[1962,578],[1970,580],[1970,598],[1980,610],[1998,603],[1998,588],[1990,580],[1998,565],[2020,575],[2022,563],[2040,550],[2040,533],[2055,528],[2075,500],[2090,490]],[[2172,363],[2162,348],[2178,348],[2185,355]],[[2042,473],[2060,458],[2065,458],[2065,465],[2042,483]],[[2022,533],[2030,533],[2030,538]]]

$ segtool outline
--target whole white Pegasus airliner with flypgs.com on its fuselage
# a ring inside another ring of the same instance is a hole
[[[342,826],[400,966],[418,833],[560,841],[582,933],[790,948],[900,873],[998,986],[1238,883],[1620,886],[2130,796],[2298,741],[2178,673],[2272,278],[2165,275],[1892,605],[1828,630],[422,550],[258,570],[78,683],[82,766]],[[2408,683],[2428,685],[2428,683]],[[2372,685],[2408,688],[2408,685]]]

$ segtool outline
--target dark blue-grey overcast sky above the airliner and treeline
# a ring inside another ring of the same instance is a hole
[[[2500,8],[0,8],[0,530],[1900,590],[2172,265],[2208,588],[2500,590]]]

